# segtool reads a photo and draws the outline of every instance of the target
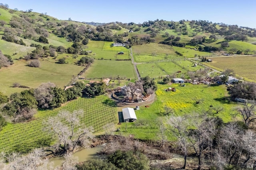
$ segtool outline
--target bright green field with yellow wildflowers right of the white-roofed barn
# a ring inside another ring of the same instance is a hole
[[[164,89],[168,87],[175,87],[176,92],[166,92]],[[206,85],[186,83],[186,87],[181,87],[178,84],[158,84],[156,96],[157,101],[150,105],[150,107],[146,108],[145,105],[142,105],[140,110],[135,111],[138,122],[127,123],[127,132],[125,132],[126,123],[120,125],[122,134],[127,136],[132,134],[134,138],[140,139],[160,139],[159,122],[165,122],[166,116],[161,114],[164,113],[163,108],[165,105],[174,109],[173,115],[175,116],[192,115],[193,113],[202,114],[208,109],[223,107],[224,110],[218,114],[213,114],[214,111],[211,110],[210,115],[220,117],[224,122],[232,120],[230,113],[233,113],[233,108],[237,106],[232,101],[222,99],[229,96],[224,85],[208,87]],[[193,97],[198,97],[204,101],[195,104],[195,101],[192,99]],[[210,107],[210,105],[213,107]],[[172,140],[173,138],[168,136],[168,139]]]

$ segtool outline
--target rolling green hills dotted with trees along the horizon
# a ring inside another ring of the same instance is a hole
[[[0,14],[0,49],[8,55],[18,53],[14,58],[48,57],[54,55],[54,50],[86,55],[88,40],[125,43],[128,47],[160,43],[180,47],[175,49],[177,55],[187,49],[209,53],[256,53],[255,28],[205,20],[154,20],[142,24],[76,22],[3,6],[0,6]],[[42,51],[38,45],[47,47]]]

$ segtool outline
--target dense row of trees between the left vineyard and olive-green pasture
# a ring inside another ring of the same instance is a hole
[[[13,93],[10,99],[0,93],[0,102],[6,103],[1,111],[3,116],[12,122],[22,122],[31,119],[36,109],[60,107],[62,103],[81,97],[83,93],[88,96],[102,95],[105,93],[105,86],[104,83],[85,86],[84,83],[77,82],[64,91],[54,83],[48,82],[42,83],[36,89]]]

